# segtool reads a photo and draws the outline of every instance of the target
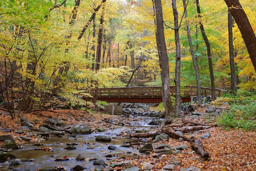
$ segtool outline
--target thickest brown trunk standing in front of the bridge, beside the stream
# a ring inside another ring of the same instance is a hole
[[[157,28],[157,49],[162,76],[162,98],[166,113],[166,123],[171,122],[175,117],[173,104],[170,95],[169,61],[164,38],[164,23],[161,0],[155,0],[156,28]]]

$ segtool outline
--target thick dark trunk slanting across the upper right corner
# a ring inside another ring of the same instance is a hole
[[[252,26],[238,0],[225,0],[225,2],[242,34],[243,40],[245,41],[245,45],[254,66],[254,70],[256,72],[256,36]]]

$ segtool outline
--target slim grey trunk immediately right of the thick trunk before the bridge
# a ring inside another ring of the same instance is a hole
[[[175,114],[180,116],[180,38],[179,38],[179,22],[176,0],[172,0],[173,16],[174,16],[174,32],[176,45],[176,65],[175,65]]]

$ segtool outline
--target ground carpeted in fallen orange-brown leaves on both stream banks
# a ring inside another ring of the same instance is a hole
[[[198,109],[205,111],[204,108]],[[64,120],[67,124],[74,125],[78,122],[88,124],[92,131],[95,131],[96,127],[102,127],[108,129],[114,127],[102,120],[106,119],[120,119],[119,115],[108,115],[103,113],[86,113],[79,110],[54,110],[54,111],[37,111],[32,113],[23,114],[20,117],[29,118],[31,121],[36,121],[35,127],[39,127],[43,124],[43,121],[49,117],[58,118]],[[78,119],[80,121],[77,121]],[[122,118],[122,122],[128,123],[135,118]],[[16,142],[22,144],[23,142],[18,139],[20,134],[15,133],[16,130],[21,130],[19,122],[20,118],[16,117],[12,119],[11,116],[2,112],[0,125],[0,135],[12,135]],[[179,122],[179,119],[177,119]],[[201,120],[200,122],[205,122]],[[212,123],[216,122],[213,118]],[[6,130],[9,130],[7,132]],[[206,139],[200,137],[205,133],[210,133],[211,136]],[[184,134],[187,136],[188,134]],[[150,155],[141,153],[139,158],[127,158],[132,160],[132,166],[144,168],[144,164],[154,164],[154,168],[151,171],[159,171],[166,164],[169,164],[171,160],[182,162],[182,166],[176,166],[175,170],[179,171],[181,168],[197,167],[202,171],[256,171],[256,132],[255,131],[243,131],[239,129],[223,129],[221,127],[211,127],[200,131],[200,133],[193,135],[202,140],[205,151],[209,152],[209,160],[203,160],[200,155],[196,154],[191,148],[189,142],[175,140],[170,138],[169,140],[163,140],[161,143],[168,144],[171,147],[179,145],[187,145],[189,149],[184,150],[183,153],[177,155],[162,155],[161,158],[153,158],[152,152]],[[32,139],[32,141],[38,141],[38,138]],[[0,146],[1,146],[0,142]],[[118,161],[117,158],[115,161]],[[115,171],[121,171],[124,168],[115,168]]]

